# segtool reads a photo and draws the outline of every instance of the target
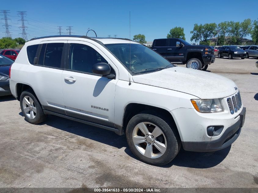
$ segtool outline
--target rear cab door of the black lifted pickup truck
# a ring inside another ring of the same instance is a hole
[[[180,47],[176,46],[183,44],[180,40],[169,39],[169,48],[168,48],[168,59],[174,62],[181,62],[184,60],[185,46]],[[184,45],[184,44],[183,44]]]

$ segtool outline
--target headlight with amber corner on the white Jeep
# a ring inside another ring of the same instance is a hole
[[[223,112],[222,98],[215,99],[191,99],[194,108],[200,113]]]

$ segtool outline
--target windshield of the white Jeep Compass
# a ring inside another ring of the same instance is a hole
[[[141,44],[131,44],[131,57],[130,44],[106,44],[105,46],[132,74],[174,67],[173,64],[157,52]]]

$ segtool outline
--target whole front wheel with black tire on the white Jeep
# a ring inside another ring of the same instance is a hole
[[[176,128],[151,111],[132,117],[126,128],[126,138],[129,148],[137,158],[157,166],[172,161],[181,147]]]

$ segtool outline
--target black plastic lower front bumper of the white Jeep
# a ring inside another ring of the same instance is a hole
[[[245,123],[245,108],[240,113],[240,119],[228,127],[219,139],[214,141],[183,142],[184,150],[193,152],[212,152],[230,146],[238,138],[241,128]]]

